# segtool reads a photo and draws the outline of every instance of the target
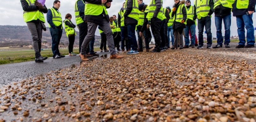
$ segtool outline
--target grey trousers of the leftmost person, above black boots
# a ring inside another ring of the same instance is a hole
[[[42,27],[40,23],[33,23],[33,22],[27,22],[29,31],[31,33],[32,39],[33,39],[33,47],[35,51],[35,56],[38,58],[41,52],[41,46],[42,46]]]

